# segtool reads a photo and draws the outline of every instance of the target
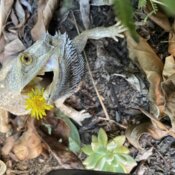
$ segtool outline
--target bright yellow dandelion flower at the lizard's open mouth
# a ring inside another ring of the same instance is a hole
[[[51,110],[52,105],[47,104],[46,99],[43,97],[44,89],[32,89],[26,99],[26,110],[30,110],[32,117],[42,119],[46,116],[46,110]]]

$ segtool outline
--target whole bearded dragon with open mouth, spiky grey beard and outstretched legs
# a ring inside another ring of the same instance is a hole
[[[81,55],[88,39],[123,37],[125,29],[117,24],[82,32],[72,41],[67,34],[48,33],[14,59],[6,59],[0,69],[0,109],[15,115],[25,115],[24,93],[28,87],[39,84],[44,87],[48,103],[55,103],[66,115],[80,123],[90,115],[63,105],[66,98],[77,89],[84,75],[84,59]],[[46,72],[53,72],[53,80],[44,80]],[[41,77],[42,76],[42,77]]]

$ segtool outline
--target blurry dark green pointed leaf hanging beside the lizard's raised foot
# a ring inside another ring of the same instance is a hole
[[[139,36],[136,32],[134,19],[133,19],[133,9],[130,0],[114,0],[114,10],[122,22],[122,24],[128,28],[132,38],[138,42]]]

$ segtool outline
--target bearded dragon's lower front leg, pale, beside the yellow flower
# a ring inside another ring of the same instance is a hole
[[[76,121],[79,125],[82,125],[81,122],[84,119],[91,117],[91,115],[89,113],[85,112],[85,110],[77,111],[77,110],[73,109],[72,107],[65,105],[64,102],[70,95],[71,94],[68,94],[68,95],[66,95],[64,97],[61,97],[58,100],[56,100],[55,101],[55,106],[61,112],[63,112],[65,115],[67,115],[68,117],[70,117],[74,121]]]

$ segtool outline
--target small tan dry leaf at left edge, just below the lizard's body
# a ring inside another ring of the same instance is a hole
[[[2,133],[7,133],[11,129],[8,117],[8,112],[0,109],[0,132]]]

